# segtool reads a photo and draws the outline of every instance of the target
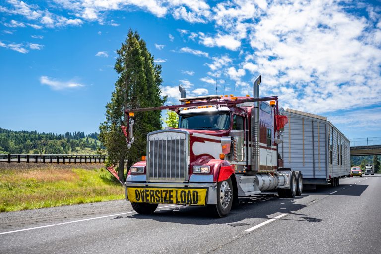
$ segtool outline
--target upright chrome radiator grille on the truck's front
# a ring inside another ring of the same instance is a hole
[[[147,180],[188,180],[188,132],[158,130],[147,136]]]

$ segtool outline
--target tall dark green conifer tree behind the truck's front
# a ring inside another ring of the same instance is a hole
[[[135,113],[134,137],[131,149],[127,149],[125,137],[120,128],[127,126],[126,109],[162,106],[166,97],[161,97],[161,66],[154,63],[146,43],[131,29],[119,50],[115,70],[119,74],[106,105],[106,121],[99,126],[99,140],[104,144],[112,164],[118,164],[118,175],[123,176],[124,161],[127,166],[146,154],[146,135],[161,129],[160,112]]]

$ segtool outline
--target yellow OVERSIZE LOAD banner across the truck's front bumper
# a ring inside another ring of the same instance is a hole
[[[184,188],[127,188],[132,203],[205,205],[207,189]]]

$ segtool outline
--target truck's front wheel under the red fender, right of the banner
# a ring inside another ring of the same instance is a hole
[[[233,184],[230,178],[217,184],[217,204],[210,205],[210,210],[216,218],[223,218],[229,214],[233,196]]]

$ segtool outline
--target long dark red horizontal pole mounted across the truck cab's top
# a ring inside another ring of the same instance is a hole
[[[176,110],[179,108],[184,108],[184,107],[197,107],[197,106],[206,106],[206,105],[222,105],[222,104],[227,104],[229,105],[234,105],[234,104],[240,104],[240,103],[245,103],[245,102],[254,102],[254,101],[271,101],[275,100],[278,104],[278,96],[270,96],[270,97],[259,97],[259,98],[237,98],[237,99],[220,99],[216,101],[200,101],[200,102],[191,102],[185,104],[180,104],[180,105],[172,105],[172,106],[161,106],[161,107],[152,107],[152,108],[140,108],[140,109],[126,109],[125,113],[129,112],[139,112],[139,111],[153,111],[153,110]]]

